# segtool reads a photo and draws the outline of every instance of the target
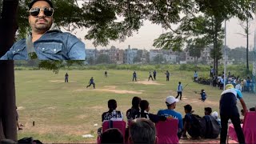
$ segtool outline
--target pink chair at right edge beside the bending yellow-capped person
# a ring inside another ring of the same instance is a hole
[[[250,111],[246,113],[241,126],[243,134],[245,135],[246,143],[256,143],[256,112]],[[229,126],[229,136],[234,141],[238,142],[238,137],[233,125]]]

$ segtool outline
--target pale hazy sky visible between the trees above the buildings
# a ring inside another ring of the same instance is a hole
[[[82,1],[80,1],[82,3]],[[80,5],[80,2],[78,5]],[[224,22],[223,22],[224,26]],[[175,26],[174,26],[175,28]],[[256,22],[250,22],[250,35],[249,35],[249,47],[254,46],[254,30],[256,29]],[[84,36],[87,34],[86,29],[78,29],[74,30],[73,34],[75,34],[78,38],[82,39],[82,42],[85,42],[87,49],[94,49],[93,41],[85,40]],[[131,48],[138,49],[156,49],[153,46],[154,39],[158,38],[160,34],[166,32],[166,30],[162,29],[162,26],[152,24],[150,21],[145,21],[144,26],[138,30],[138,32],[134,32],[133,36],[126,38],[124,42],[110,41],[108,46],[97,46],[98,50],[110,48],[111,46],[115,46],[119,49],[126,49],[130,45]],[[229,46],[231,49],[235,47],[244,46],[246,47],[246,38],[240,34],[245,34],[242,26],[239,25],[238,18],[231,18],[226,22],[226,46]]]

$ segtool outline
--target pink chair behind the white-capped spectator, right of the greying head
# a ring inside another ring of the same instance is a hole
[[[167,118],[166,122],[155,124],[158,143],[178,143],[178,119]]]

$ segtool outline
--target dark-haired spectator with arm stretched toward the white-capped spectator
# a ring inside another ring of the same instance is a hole
[[[142,100],[139,104],[141,110],[139,114],[135,115],[135,118],[147,118],[150,119],[152,122],[158,122],[158,121],[166,121],[165,116],[158,116],[156,114],[150,114],[150,103],[146,100]]]

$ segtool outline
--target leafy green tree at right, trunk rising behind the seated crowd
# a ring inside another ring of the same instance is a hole
[[[162,49],[182,50],[182,46],[184,46],[183,43],[186,42],[185,39],[194,37],[208,39],[206,42],[210,42],[214,45],[214,49],[211,50],[210,55],[214,58],[214,69],[218,74],[218,59],[222,58],[222,22],[233,17],[238,17],[242,20],[252,18],[254,8],[250,6],[251,2],[254,1],[180,1],[179,3],[175,3],[182,9],[178,9],[178,14],[182,11],[185,16],[179,18],[179,15],[175,17],[177,14],[174,14],[174,18],[177,19],[172,22],[164,19],[164,16],[166,16],[165,11],[160,12],[160,10],[158,10],[158,12],[162,14],[162,18],[158,20],[160,22],[166,22],[166,28],[168,28],[170,32],[160,35],[160,37],[154,41],[154,46]],[[170,7],[173,8],[174,5]],[[169,25],[170,23],[178,24],[178,22],[180,24],[176,30],[173,30]]]

